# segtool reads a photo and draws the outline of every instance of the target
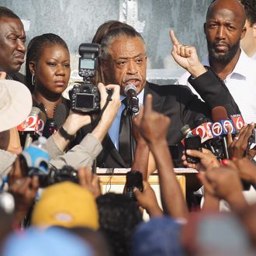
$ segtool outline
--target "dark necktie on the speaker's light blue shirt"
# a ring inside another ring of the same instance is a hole
[[[119,154],[126,163],[126,168],[131,165],[131,147],[130,147],[130,122],[131,116],[127,111],[126,99],[123,99],[122,103],[125,105],[123,109],[120,126],[119,126]]]

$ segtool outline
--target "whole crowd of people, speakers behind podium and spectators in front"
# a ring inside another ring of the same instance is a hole
[[[255,16],[255,0],[214,0],[206,13],[209,55],[202,63],[195,47],[180,43],[171,30],[171,57],[186,71],[175,85],[147,81],[147,47],[136,29],[103,23],[92,40],[100,46],[93,83],[101,111],[83,113],[62,94],[71,66],[61,36],[49,31],[26,47],[19,16],[0,6],[0,254],[254,255]],[[140,103],[137,115],[129,109],[130,85]],[[37,130],[31,144],[32,133],[19,129],[35,111],[44,116],[43,148],[35,147]],[[242,117],[202,148],[182,144],[185,125],[189,137],[199,124]],[[45,176],[34,153],[28,158],[29,147],[49,157],[38,157]],[[142,185],[130,191],[127,182],[123,194],[102,194],[95,166],[130,168]],[[198,171],[186,199],[175,167]],[[155,170],[161,206],[148,182]],[[192,202],[195,195],[200,202]]]

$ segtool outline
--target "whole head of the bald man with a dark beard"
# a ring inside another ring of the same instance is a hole
[[[215,0],[209,5],[204,30],[210,64],[220,70],[223,65],[237,63],[240,56],[240,40],[246,28],[243,5],[238,0]],[[221,67],[220,67],[221,66]]]

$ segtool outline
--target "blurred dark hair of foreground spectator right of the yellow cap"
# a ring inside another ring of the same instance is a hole
[[[126,195],[107,193],[96,199],[99,209],[99,230],[106,235],[113,255],[130,255],[131,236],[142,221],[137,203]]]

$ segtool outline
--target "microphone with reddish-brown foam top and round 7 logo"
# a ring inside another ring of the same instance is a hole
[[[223,147],[223,155],[226,159],[229,159],[228,149],[227,149],[227,128],[230,127],[231,133],[235,133],[234,123],[232,120],[228,119],[227,110],[223,106],[216,106],[212,109],[212,133],[213,137],[221,137],[221,143]]]

